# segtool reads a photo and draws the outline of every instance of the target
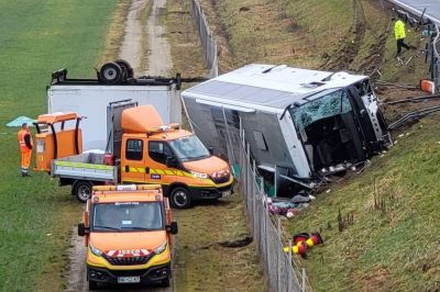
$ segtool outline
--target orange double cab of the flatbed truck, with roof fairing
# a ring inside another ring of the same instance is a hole
[[[123,183],[160,183],[178,209],[231,194],[228,162],[212,156],[194,133],[164,125],[151,105],[124,109],[120,120],[123,134],[113,153],[120,154]]]

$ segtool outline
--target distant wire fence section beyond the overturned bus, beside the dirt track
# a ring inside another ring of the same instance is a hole
[[[201,46],[204,47],[205,60],[209,67],[209,77],[217,77],[219,75],[217,43],[209,29],[205,13],[200,8],[200,3],[197,0],[191,0],[191,14],[196,22]]]

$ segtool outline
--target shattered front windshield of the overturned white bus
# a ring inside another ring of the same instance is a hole
[[[290,109],[290,114],[314,169],[364,159],[346,90]]]

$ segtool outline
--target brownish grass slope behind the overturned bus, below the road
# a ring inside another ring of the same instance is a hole
[[[219,43],[222,71],[249,63],[352,70],[418,83],[427,74],[425,40],[407,25],[418,49],[395,58],[389,7],[374,0],[201,0]],[[386,3],[386,1],[385,1]]]

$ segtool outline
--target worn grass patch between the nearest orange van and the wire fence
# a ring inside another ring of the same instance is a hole
[[[264,291],[255,243],[228,248],[221,242],[249,236],[239,193],[217,203],[176,210],[176,291]]]

